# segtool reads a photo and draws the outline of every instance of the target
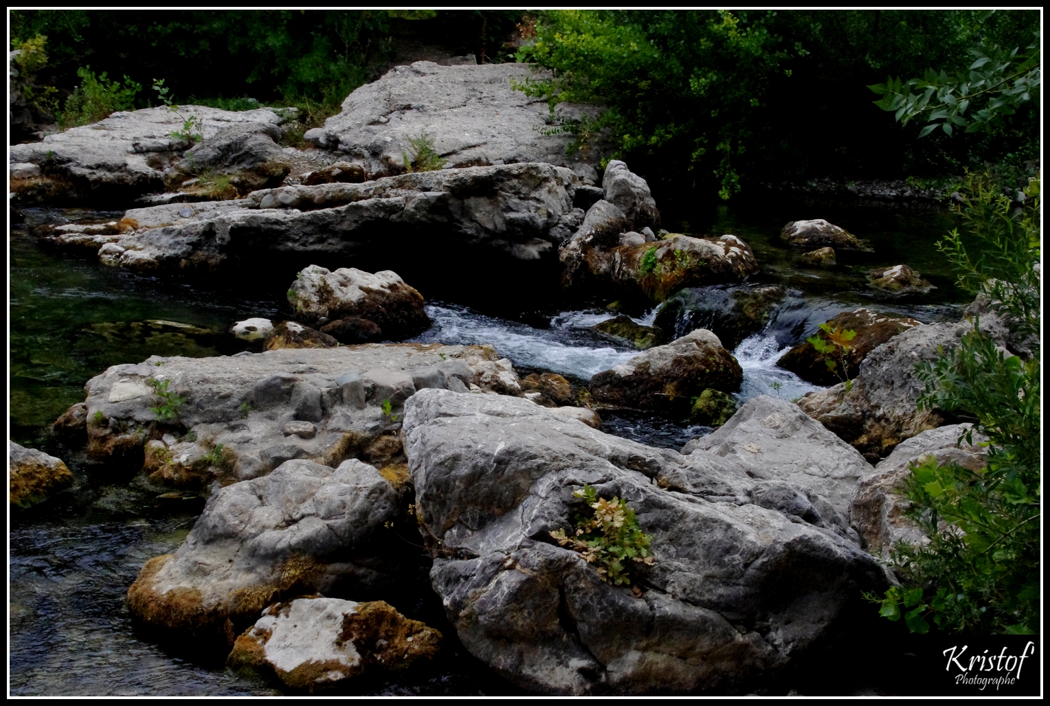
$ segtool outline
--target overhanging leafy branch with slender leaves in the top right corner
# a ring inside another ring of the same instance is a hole
[[[954,127],[966,132],[989,130],[992,121],[1012,114],[1033,98],[1038,99],[1042,83],[1038,31],[1027,49],[1021,55],[1020,47],[1006,51],[986,39],[981,46],[970,49],[976,61],[967,71],[949,76],[944,70],[938,73],[927,69],[922,79],[902,83],[900,79],[888,78],[886,83],[868,88],[882,95],[875,104],[892,111],[901,125],[911,120],[925,122],[920,137],[937,128],[947,135],[951,135]]]

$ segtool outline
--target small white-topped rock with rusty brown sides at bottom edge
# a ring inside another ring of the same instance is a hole
[[[272,670],[286,686],[314,693],[429,660],[441,638],[384,601],[298,598],[264,611],[237,638],[227,664]]]

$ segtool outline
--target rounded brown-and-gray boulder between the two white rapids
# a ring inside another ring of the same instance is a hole
[[[685,415],[690,400],[704,390],[735,392],[742,380],[739,363],[718,337],[699,328],[598,372],[590,392],[603,405]]]

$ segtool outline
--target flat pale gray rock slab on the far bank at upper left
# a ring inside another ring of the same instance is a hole
[[[201,121],[195,129],[206,141],[230,127],[272,131],[286,120],[269,108],[229,111],[180,106],[178,112]],[[190,147],[171,136],[182,129],[183,119],[166,107],[116,112],[39,143],[14,145],[9,161],[38,165],[46,175],[70,181],[74,192],[67,198],[71,200],[89,200],[96,207],[99,199],[127,204],[164,189],[164,167]]]

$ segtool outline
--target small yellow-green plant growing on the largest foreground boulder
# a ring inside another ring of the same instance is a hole
[[[598,498],[597,491],[587,485],[573,495],[584,498],[593,512],[589,517],[576,515],[576,529],[571,536],[564,528],[550,536],[562,547],[569,545],[580,552],[588,563],[596,563],[598,576],[606,583],[629,585],[634,563],[652,565],[655,561],[649,535],[638,529],[634,510],[618,497]]]

